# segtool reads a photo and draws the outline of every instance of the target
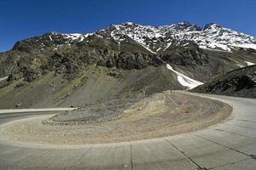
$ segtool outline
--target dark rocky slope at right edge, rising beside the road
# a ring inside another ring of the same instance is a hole
[[[192,92],[256,98],[256,65],[230,71]]]

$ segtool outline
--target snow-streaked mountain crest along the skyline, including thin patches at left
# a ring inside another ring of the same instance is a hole
[[[125,22],[90,34],[63,34],[63,36],[67,38],[67,42],[84,41],[90,36],[113,37],[116,42],[123,42],[127,38],[131,38],[152,53],[163,52],[173,41],[183,40],[195,42],[200,48],[229,52],[236,48],[256,49],[255,37],[212,23],[200,27],[189,22],[172,26],[141,26]]]

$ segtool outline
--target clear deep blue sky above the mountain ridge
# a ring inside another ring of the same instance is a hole
[[[255,0],[1,0],[0,51],[47,31],[90,32],[131,21],[204,26],[216,22],[256,37]]]

